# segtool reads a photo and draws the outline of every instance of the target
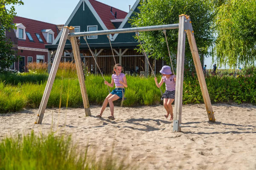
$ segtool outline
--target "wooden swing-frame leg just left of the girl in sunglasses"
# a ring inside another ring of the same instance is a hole
[[[89,100],[88,100],[88,96],[87,96],[86,87],[84,84],[84,71],[83,71],[83,68],[81,65],[81,57],[80,57],[79,45],[77,43],[77,38],[70,37],[70,42],[72,45],[73,56],[74,56],[75,63],[76,63],[76,71],[77,71],[79,85],[80,85],[81,94],[82,94],[82,99],[83,99],[83,103],[84,103],[85,116],[91,116]]]

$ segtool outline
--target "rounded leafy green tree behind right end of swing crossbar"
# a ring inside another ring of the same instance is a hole
[[[210,0],[146,0],[141,1],[139,11],[131,18],[131,25],[134,27],[155,26],[179,23],[179,15],[190,16],[195,40],[200,55],[209,56],[208,50],[215,42],[213,36],[213,21],[215,10]],[[170,52],[177,54],[178,29],[167,30]],[[162,31],[140,32],[140,40],[143,41],[143,48],[151,57],[164,58],[169,62],[167,45]],[[192,59],[189,43],[186,40],[185,58]],[[142,52],[141,47],[138,49]]]

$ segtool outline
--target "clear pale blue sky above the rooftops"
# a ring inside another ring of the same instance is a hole
[[[64,24],[73,12],[79,0],[22,0],[24,5],[15,6],[17,16],[44,21],[52,24]],[[136,0],[97,0],[109,6],[128,12],[129,5]],[[8,7],[7,7],[8,8]],[[207,69],[213,67],[212,58],[206,58]]]

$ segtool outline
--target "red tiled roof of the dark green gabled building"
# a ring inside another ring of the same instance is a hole
[[[124,19],[128,14],[127,12],[121,11],[117,8],[112,8],[113,14],[111,14],[111,6],[108,6],[96,0],[89,0],[89,2],[92,4],[93,8],[95,9],[95,11],[97,12],[97,14],[102,19],[103,23],[108,29],[115,29],[115,26],[113,25],[111,20]],[[115,12],[116,12],[116,18],[114,16]]]

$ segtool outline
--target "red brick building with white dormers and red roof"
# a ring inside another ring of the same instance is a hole
[[[45,23],[24,17],[14,17],[17,27],[14,29],[17,37],[17,55],[21,58],[14,63],[14,69],[27,71],[29,62],[48,62],[48,49],[45,45],[52,44],[58,31],[55,24]]]

